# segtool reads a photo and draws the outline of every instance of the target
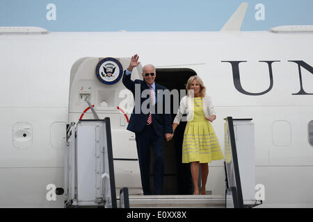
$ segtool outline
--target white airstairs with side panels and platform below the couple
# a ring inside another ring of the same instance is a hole
[[[251,163],[245,162],[246,160],[243,160],[240,152],[236,152],[236,144],[244,145],[241,144],[241,133],[244,133],[244,137],[246,137],[247,132],[249,133],[249,130],[251,132],[250,119],[237,120],[239,123],[235,127],[232,117],[227,117],[225,121],[225,182],[227,187],[225,196],[129,195],[127,187],[120,189],[118,195],[115,192],[109,117],[103,120],[80,120],[78,123],[71,123],[67,126],[65,207],[236,208],[259,205],[259,201],[251,198],[248,204],[243,201],[245,199],[243,194],[247,195],[246,191],[251,191],[248,187],[251,181],[254,181],[252,178],[254,170],[252,174],[244,172],[246,176],[243,174],[239,176],[238,160],[244,163],[241,164],[241,168],[253,167],[254,169],[254,165],[249,166]],[[241,125],[244,126],[243,130],[240,129]],[[234,129],[236,130],[236,140]],[[241,132],[245,129],[246,132]],[[250,142],[253,142],[253,139]],[[252,154],[254,154],[253,152]],[[241,186],[241,181],[245,182],[243,186]]]

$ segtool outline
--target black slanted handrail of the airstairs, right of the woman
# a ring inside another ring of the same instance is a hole
[[[238,164],[238,157],[237,157],[237,151],[236,151],[236,141],[234,137],[234,123],[232,121],[232,117],[227,117],[227,121],[228,121],[228,130],[230,132],[230,144],[232,146],[232,162],[234,164],[237,200],[239,203],[239,207],[243,208],[243,196],[242,196],[242,189],[241,189],[239,164]]]

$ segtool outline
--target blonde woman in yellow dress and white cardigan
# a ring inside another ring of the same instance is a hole
[[[193,194],[200,194],[198,188],[199,163],[201,166],[201,194],[205,194],[205,185],[209,175],[208,162],[223,160],[223,153],[216,137],[212,121],[216,113],[210,96],[206,95],[206,88],[198,76],[188,79],[187,96],[179,103],[179,110],[172,123],[175,132],[182,115],[187,114],[187,125],[184,132],[182,147],[182,162],[191,162],[191,176],[193,178]]]

